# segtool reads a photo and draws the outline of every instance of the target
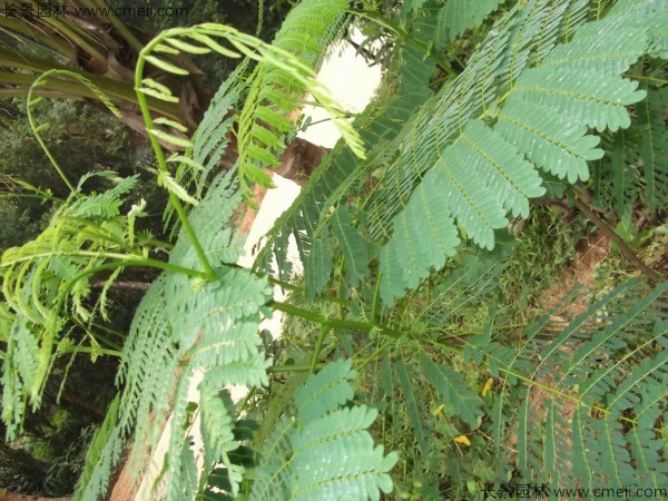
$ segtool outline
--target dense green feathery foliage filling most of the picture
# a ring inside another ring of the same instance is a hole
[[[302,1],[272,45],[205,23],[141,50],[137,101],[174,245],[136,229],[144,204],[121,213],[135,177],[105,175],[111,189],[86,193],[92,175],[75,184],[51,155],[70,193],[39,236],[2,256],[2,419],[16,436],[57,360],[120,358],[79,499],[108,493],[121,460],[143,464],[163,429],[151,498],[484,499],[487,485],[509,481],[666,497],[668,283],[656,272],[615,281],[577,315],[574,291],[520,318],[531,292],[512,297],[512,273],[537,250],[508,228],[541,197],[589,214],[590,196],[620,229],[633,204],[665,218],[668,11],[660,0],[428,0],[385,6],[386,19],[373,7],[357,14],[395,37],[394,71],[352,125],[314,73],[346,2]],[[210,52],[242,62],[189,138],[153,118],[147,96],[178,98],[144,69],[185,76],[165,55]],[[250,183],[268,183],[305,92],[342,141],[254,269],[240,268],[233,214]],[[238,161],[214,174],[230,135]],[[181,151],[168,156],[165,144]],[[287,261],[291,237],[303,277]],[[95,321],[131,266],[163,272],[114,350]],[[91,294],[100,272],[102,292]],[[287,303],[271,299],[272,283],[292,291]],[[291,316],[281,342],[258,334],[272,310]],[[233,402],[232,385],[250,394]]]

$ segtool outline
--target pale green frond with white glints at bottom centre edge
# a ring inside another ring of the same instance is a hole
[[[297,391],[297,422],[278,424],[262,451],[248,499],[380,500],[380,491],[392,491],[387,472],[397,456],[374,449],[366,431],[377,411],[344,406],[353,397],[351,366],[350,360],[337,360]]]

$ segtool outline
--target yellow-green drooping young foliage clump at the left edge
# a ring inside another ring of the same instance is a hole
[[[109,177],[109,176],[106,176]],[[0,312],[9,328],[3,367],[2,418],[8,433],[21,426],[26,404],[39,405],[55,353],[71,353],[76,340],[68,337],[65,317],[86,327],[105,314],[105,296],[87,305],[89,276],[105,264],[116,268],[143,258],[151,240],[134,234],[129,217],[119,214],[121,197],[136,178],[114,179],[114,188],[84,196],[79,188],[52,216],[48,228],[35,240],[12,247],[2,255],[2,294],[8,310]],[[112,282],[116,274],[109,277]],[[90,337],[92,354],[102,347]]]

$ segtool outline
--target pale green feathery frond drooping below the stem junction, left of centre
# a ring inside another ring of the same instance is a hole
[[[205,454],[210,466],[222,461],[230,448],[224,432],[232,431],[233,422],[217,422],[215,426],[212,423],[212,412],[219,413],[216,420],[227,415],[227,407],[218,403],[218,390],[226,384],[256,386],[267,382],[268,361],[258,350],[256,331],[258,308],[267,302],[269,288],[266,279],[225,266],[236,263],[242,243],[230,228],[225,228],[240,202],[240,194],[229,185],[230,178],[228,173],[219,175],[189,216],[198,234],[206,236],[202,246],[216,278],[203,281],[167,273],[151,285],[137,310],[119,371],[119,382],[125,386],[116,430],[82,490],[82,499],[98,499],[105,492],[110,466],[128,438],[135,443],[129,461],[139,464],[146,448],[155,445],[168,410],[171,435],[166,495],[189,499],[198,485],[197,475],[183,474],[190,471],[187,465],[195,461],[187,440],[193,425],[187,396],[193,377],[204,377],[196,409],[203,412]],[[198,264],[185,232],[170,263],[184,268]],[[212,431],[217,439],[209,436]]]

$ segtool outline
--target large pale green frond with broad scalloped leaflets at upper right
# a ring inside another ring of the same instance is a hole
[[[430,268],[440,269],[446,254],[425,250],[420,245],[433,245],[443,232],[441,227],[431,229],[435,234],[433,238],[415,235],[412,240],[406,228],[432,220],[434,213],[444,210],[441,225],[450,226],[448,216],[452,216],[466,237],[491,249],[494,229],[505,225],[505,215],[525,216],[529,198],[544,193],[537,167],[560,178],[567,177],[571,183],[587,179],[587,161],[602,155],[595,148],[598,139],[587,135],[587,127],[612,131],[628,128],[630,117],[626,106],[645,97],[644,90],[637,90],[637,82],[625,80],[618,73],[647,51],[647,37],[638,29],[647,22],[647,12],[622,10],[600,21],[581,24],[572,40],[551,51],[542,45],[550,46],[549,40],[540,39],[542,59],[533,68],[501,58],[501,65],[494,70],[494,65],[499,65],[494,62],[500,59],[498,53],[509,47],[512,47],[513,58],[529,61],[530,52],[522,51],[521,47],[538,37],[539,22],[554,12],[570,12],[552,10],[541,1],[531,2],[525,9],[525,19],[509,12],[454,85],[445,87],[442,96],[423,110],[409,132],[414,139],[381,180],[385,191],[379,191],[371,203],[371,235],[382,239],[382,235],[389,233],[387,227],[393,230],[384,244],[389,248],[380,253],[382,297],[389,305],[405,289],[416,287]],[[532,17],[538,21],[534,24],[530,22]],[[518,40],[513,31],[512,23],[520,22],[518,20],[528,23],[533,33],[524,35],[525,41]],[[623,46],[617,39],[618,29],[628,35]],[[600,33],[603,33],[602,40],[599,40]],[[593,47],[589,55],[590,45]],[[582,57],[583,53],[588,56]],[[517,72],[517,78],[481,115],[483,119],[495,120],[490,129],[475,119],[480,106],[485,106],[485,100],[494,95],[488,75],[495,71],[503,81],[509,70]],[[418,183],[416,187],[413,181]],[[420,190],[422,186],[435,187],[430,189],[439,195],[426,198]],[[391,273],[394,267],[399,267],[401,274]]]

